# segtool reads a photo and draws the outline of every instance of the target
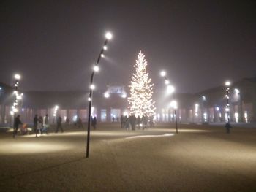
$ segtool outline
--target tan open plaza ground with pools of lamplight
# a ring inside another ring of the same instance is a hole
[[[159,124],[12,138],[0,133],[0,191],[256,191],[256,128]],[[54,130],[52,130],[54,131]]]

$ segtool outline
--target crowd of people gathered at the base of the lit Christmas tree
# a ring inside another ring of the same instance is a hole
[[[132,128],[133,131],[135,131],[135,128],[138,129],[145,129],[148,128],[148,126],[153,127],[154,126],[154,118],[153,116],[148,117],[148,115],[143,115],[140,118],[140,115],[136,118],[135,115],[121,115],[121,128],[129,129]]]

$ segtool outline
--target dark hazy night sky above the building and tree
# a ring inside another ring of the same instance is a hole
[[[1,1],[0,82],[24,91],[88,90],[113,32],[97,88],[128,85],[140,50],[155,91],[178,93],[256,77],[256,1]]]

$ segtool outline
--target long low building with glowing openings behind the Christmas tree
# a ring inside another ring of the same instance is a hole
[[[102,122],[118,121],[121,115],[129,115],[128,88],[110,85],[105,91],[94,91],[92,116]],[[0,123],[11,124],[14,88],[0,83]],[[256,80],[243,79],[229,86],[228,98],[224,85],[195,94],[173,93],[171,99],[178,104],[177,120],[181,123],[256,122]],[[157,96],[157,94],[155,94]],[[56,116],[75,122],[88,120],[88,93],[85,91],[30,91],[24,93],[18,113],[26,123],[33,122],[34,115],[48,114],[52,123]],[[175,121],[170,98],[156,101],[157,122]],[[228,99],[228,110],[227,110]]]

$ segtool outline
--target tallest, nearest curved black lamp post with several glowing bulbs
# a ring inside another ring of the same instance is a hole
[[[92,104],[92,96],[93,96],[93,90],[95,88],[95,85],[93,85],[94,82],[94,72],[99,71],[98,64],[100,61],[100,58],[103,58],[103,52],[104,50],[107,50],[107,44],[108,40],[112,39],[112,34],[110,32],[107,32],[105,34],[105,42],[102,47],[102,50],[99,53],[99,57],[97,59],[97,62],[94,66],[94,71],[91,73],[91,81],[90,81],[90,93],[89,93],[89,113],[88,113],[88,126],[87,126],[87,141],[86,141],[86,158],[89,158],[89,145],[90,145],[90,131],[91,131],[91,104]]]

